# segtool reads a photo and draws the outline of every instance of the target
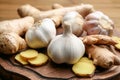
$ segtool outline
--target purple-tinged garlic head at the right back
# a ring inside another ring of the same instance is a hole
[[[85,17],[83,29],[88,35],[103,34],[111,36],[113,34],[114,23],[104,13],[95,11]]]

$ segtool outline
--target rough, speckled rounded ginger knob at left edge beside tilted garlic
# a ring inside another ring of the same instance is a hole
[[[15,54],[16,52],[26,49],[27,44],[16,33],[0,34],[0,52],[4,54]]]

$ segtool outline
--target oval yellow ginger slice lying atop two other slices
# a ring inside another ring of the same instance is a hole
[[[34,49],[28,49],[28,50],[22,51],[20,53],[20,56],[25,59],[32,59],[38,56],[38,52]]]

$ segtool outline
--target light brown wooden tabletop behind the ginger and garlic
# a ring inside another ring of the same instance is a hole
[[[80,3],[89,3],[96,10],[100,10],[108,15],[115,23],[115,27],[120,31],[120,0],[0,0],[0,21],[19,18],[17,8],[23,4],[31,4],[41,10],[51,9],[53,3],[63,6],[73,6]],[[120,74],[111,78],[119,80]]]

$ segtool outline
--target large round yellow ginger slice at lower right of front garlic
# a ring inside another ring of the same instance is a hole
[[[92,77],[95,72],[95,65],[92,60],[85,58],[81,58],[79,62],[73,65],[72,70],[77,76],[81,77]]]

